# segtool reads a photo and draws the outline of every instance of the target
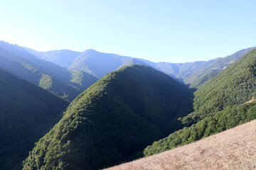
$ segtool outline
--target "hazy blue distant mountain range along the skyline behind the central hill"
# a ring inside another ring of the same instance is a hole
[[[21,67],[33,69],[33,74],[43,74],[43,76],[34,75],[33,77],[37,77],[37,80],[33,79],[33,83],[39,85],[40,82],[38,79],[40,80],[42,78],[41,87],[48,89],[48,91],[51,91],[53,94],[61,96],[68,101],[72,101],[75,96],[87,89],[91,84],[95,83],[97,79],[101,79],[107,73],[130,64],[148,65],[168,74],[184,84],[188,84],[191,88],[198,88],[198,86],[208,79],[215,77],[220,71],[237,61],[242,55],[245,55],[254,47],[240,50],[227,57],[218,57],[207,62],[185,63],[151,62],[140,58],[97,52],[96,50],[85,50],[84,52],[75,52],[72,50],[39,52],[28,47],[11,45],[4,41],[0,42],[0,48],[7,52],[11,52],[18,57],[22,56],[23,66]],[[10,60],[10,57],[8,57],[9,54],[4,56],[0,53],[0,56]],[[19,58],[19,60],[21,59]],[[24,64],[24,62],[26,64]],[[38,67],[40,68],[38,69]],[[37,73],[35,73],[35,69],[38,71]],[[77,75],[72,73],[74,70],[77,70],[76,73],[79,70],[81,72],[80,75],[83,75],[84,77],[80,76],[79,79],[74,77]],[[12,71],[12,73],[15,72],[16,70]],[[26,70],[26,72],[29,71]],[[45,74],[47,76],[45,76]],[[95,77],[97,77],[97,79]],[[31,81],[31,79],[28,80]],[[84,84],[81,84],[81,81],[83,81]],[[58,86],[56,86],[56,84],[58,84]],[[63,91],[62,89],[65,89],[65,94],[60,92]]]

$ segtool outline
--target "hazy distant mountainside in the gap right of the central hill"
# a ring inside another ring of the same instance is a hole
[[[169,62],[146,62],[161,72],[171,75],[176,79],[182,79],[185,84],[191,84],[191,88],[198,88],[199,85],[208,79],[215,77],[220,71],[223,71],[228,65],[237,61],[255,47],[239,50],[233,55],[227,57],[219,57],[207,62],[185,62],[185,63],[169,63]]]

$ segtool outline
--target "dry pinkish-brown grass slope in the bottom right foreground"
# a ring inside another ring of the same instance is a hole
[[[117,169],[256,169],[256,120]]]

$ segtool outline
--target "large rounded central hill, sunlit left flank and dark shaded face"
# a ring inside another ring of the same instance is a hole
[[[102,169],[134,157],[175,130],[191,111],[191,91],[143,65],[105,75],[70,103],[36,143],[23,169]]]

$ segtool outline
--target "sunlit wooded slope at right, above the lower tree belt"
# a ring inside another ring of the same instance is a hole
[[[194,112],[183,118],[185,125],[197,123],[228,106],[242,104],[256,96],[256,49],[248,52],[194,93]]]

